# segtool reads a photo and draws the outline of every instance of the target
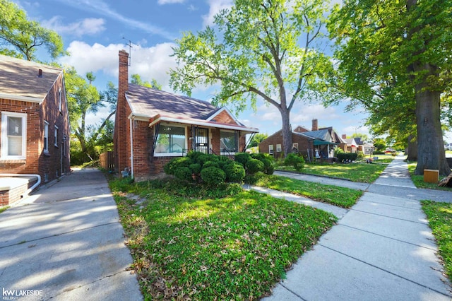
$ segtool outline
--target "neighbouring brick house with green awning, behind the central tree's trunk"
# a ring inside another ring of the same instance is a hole
[[[309,162],[316,158],[332,158],[333,149],[343,141],[333,128],[326,127],[319,129],[318,120],[312,120],[312,130],[297,126],[292,131],[292,151],[301,153]],[[269,136],[259,143],[259,153],[269,153],[275,158],[283,158],[283,133],[282,130]]]

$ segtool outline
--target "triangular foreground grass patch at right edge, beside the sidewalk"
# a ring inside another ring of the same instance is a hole
[[[422,201],[422,210],[438,243],[446,275],[452,279],[452,203]]]

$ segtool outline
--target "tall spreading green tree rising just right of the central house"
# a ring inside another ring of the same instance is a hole
[[[213,103],[235,112],[261,98],[280,112],[290,153],[290,112],[297,100],[314,98],[331,66],[319,42],[327,8],[316,0],[236,0],[215,16],[214,28],[177,40],[170,84],[188,95],[196,85],[220,84]]]

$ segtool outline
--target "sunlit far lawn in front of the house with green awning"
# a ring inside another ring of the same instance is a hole
[[[386,165],[380,164],[306,164],[302,173],[307,175],[321,175],[328,177],[335,177],[338,179],[349,179],[353,182],[372,183],[381,172],[386,168]],[[289,166],[277,167],[278,170],[295,171],[295,168]]]

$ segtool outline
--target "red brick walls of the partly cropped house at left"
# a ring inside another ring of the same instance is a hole
[[[27,154],[25,160],[0,160],[0,172],[39,174],[44,182],[44,174],[49,180],[61,175],[61,142],[66,134],[66,153],[63,154],[63,171],[69,172],[69,119],[66,95],[63,90],[63,73],[57,78],[49,94],[41,105],[35,102],[0,99],[0,111],[27,114]],[[59,112],[59,88],[63,90],[61,112]],[[44,120],[49,122],[49,153],[44,154]],[[59,127],[59,148],[54,146],[54,126]],[[0,124],[1,131],[1,124]],[[1,146],[1,141],[0,141]]]

